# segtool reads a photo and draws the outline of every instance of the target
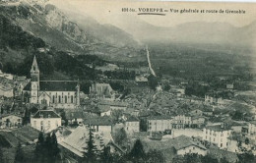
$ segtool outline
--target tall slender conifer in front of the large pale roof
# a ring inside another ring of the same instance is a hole
[[[84,154],[84,162],[86,163],[95,163],[96,162],[96,145],[94,144],[94,134],[92,129],[89,131],[89,139],[87,141],[86,152]]]

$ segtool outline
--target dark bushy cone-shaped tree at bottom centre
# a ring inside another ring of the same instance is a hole
[[[131,152],[129,153],[129,156],[133,162],[141,162],[145,159],[146,153],[144,151],[143,144],[140,139],[137,139],[135,141],[135,144]]]

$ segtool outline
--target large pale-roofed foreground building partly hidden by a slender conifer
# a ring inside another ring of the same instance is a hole
[[[59,142],[64,157],[69,158],[72,162],[80,162],[84,157],[87,141],[89,139],[89,129],[85,127],[77,127],[71,135],[67,136],[63,141]],[[101,151],[104,146],[110,147],[110,152],[123,153],[114,142],[110,133],[94,133],[94,141],[96,150]]]

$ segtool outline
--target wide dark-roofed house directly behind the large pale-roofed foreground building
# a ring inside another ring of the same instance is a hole
[[[91,127],[95,132],[112,132],[113,122],[110,117],[89,117],[84,121],[84,124]]]

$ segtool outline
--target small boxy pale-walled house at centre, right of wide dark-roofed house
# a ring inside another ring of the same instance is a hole
[[[134,116],[128,117],[125,122],[125,131],[127,133],[140,132],[140,120]]]

